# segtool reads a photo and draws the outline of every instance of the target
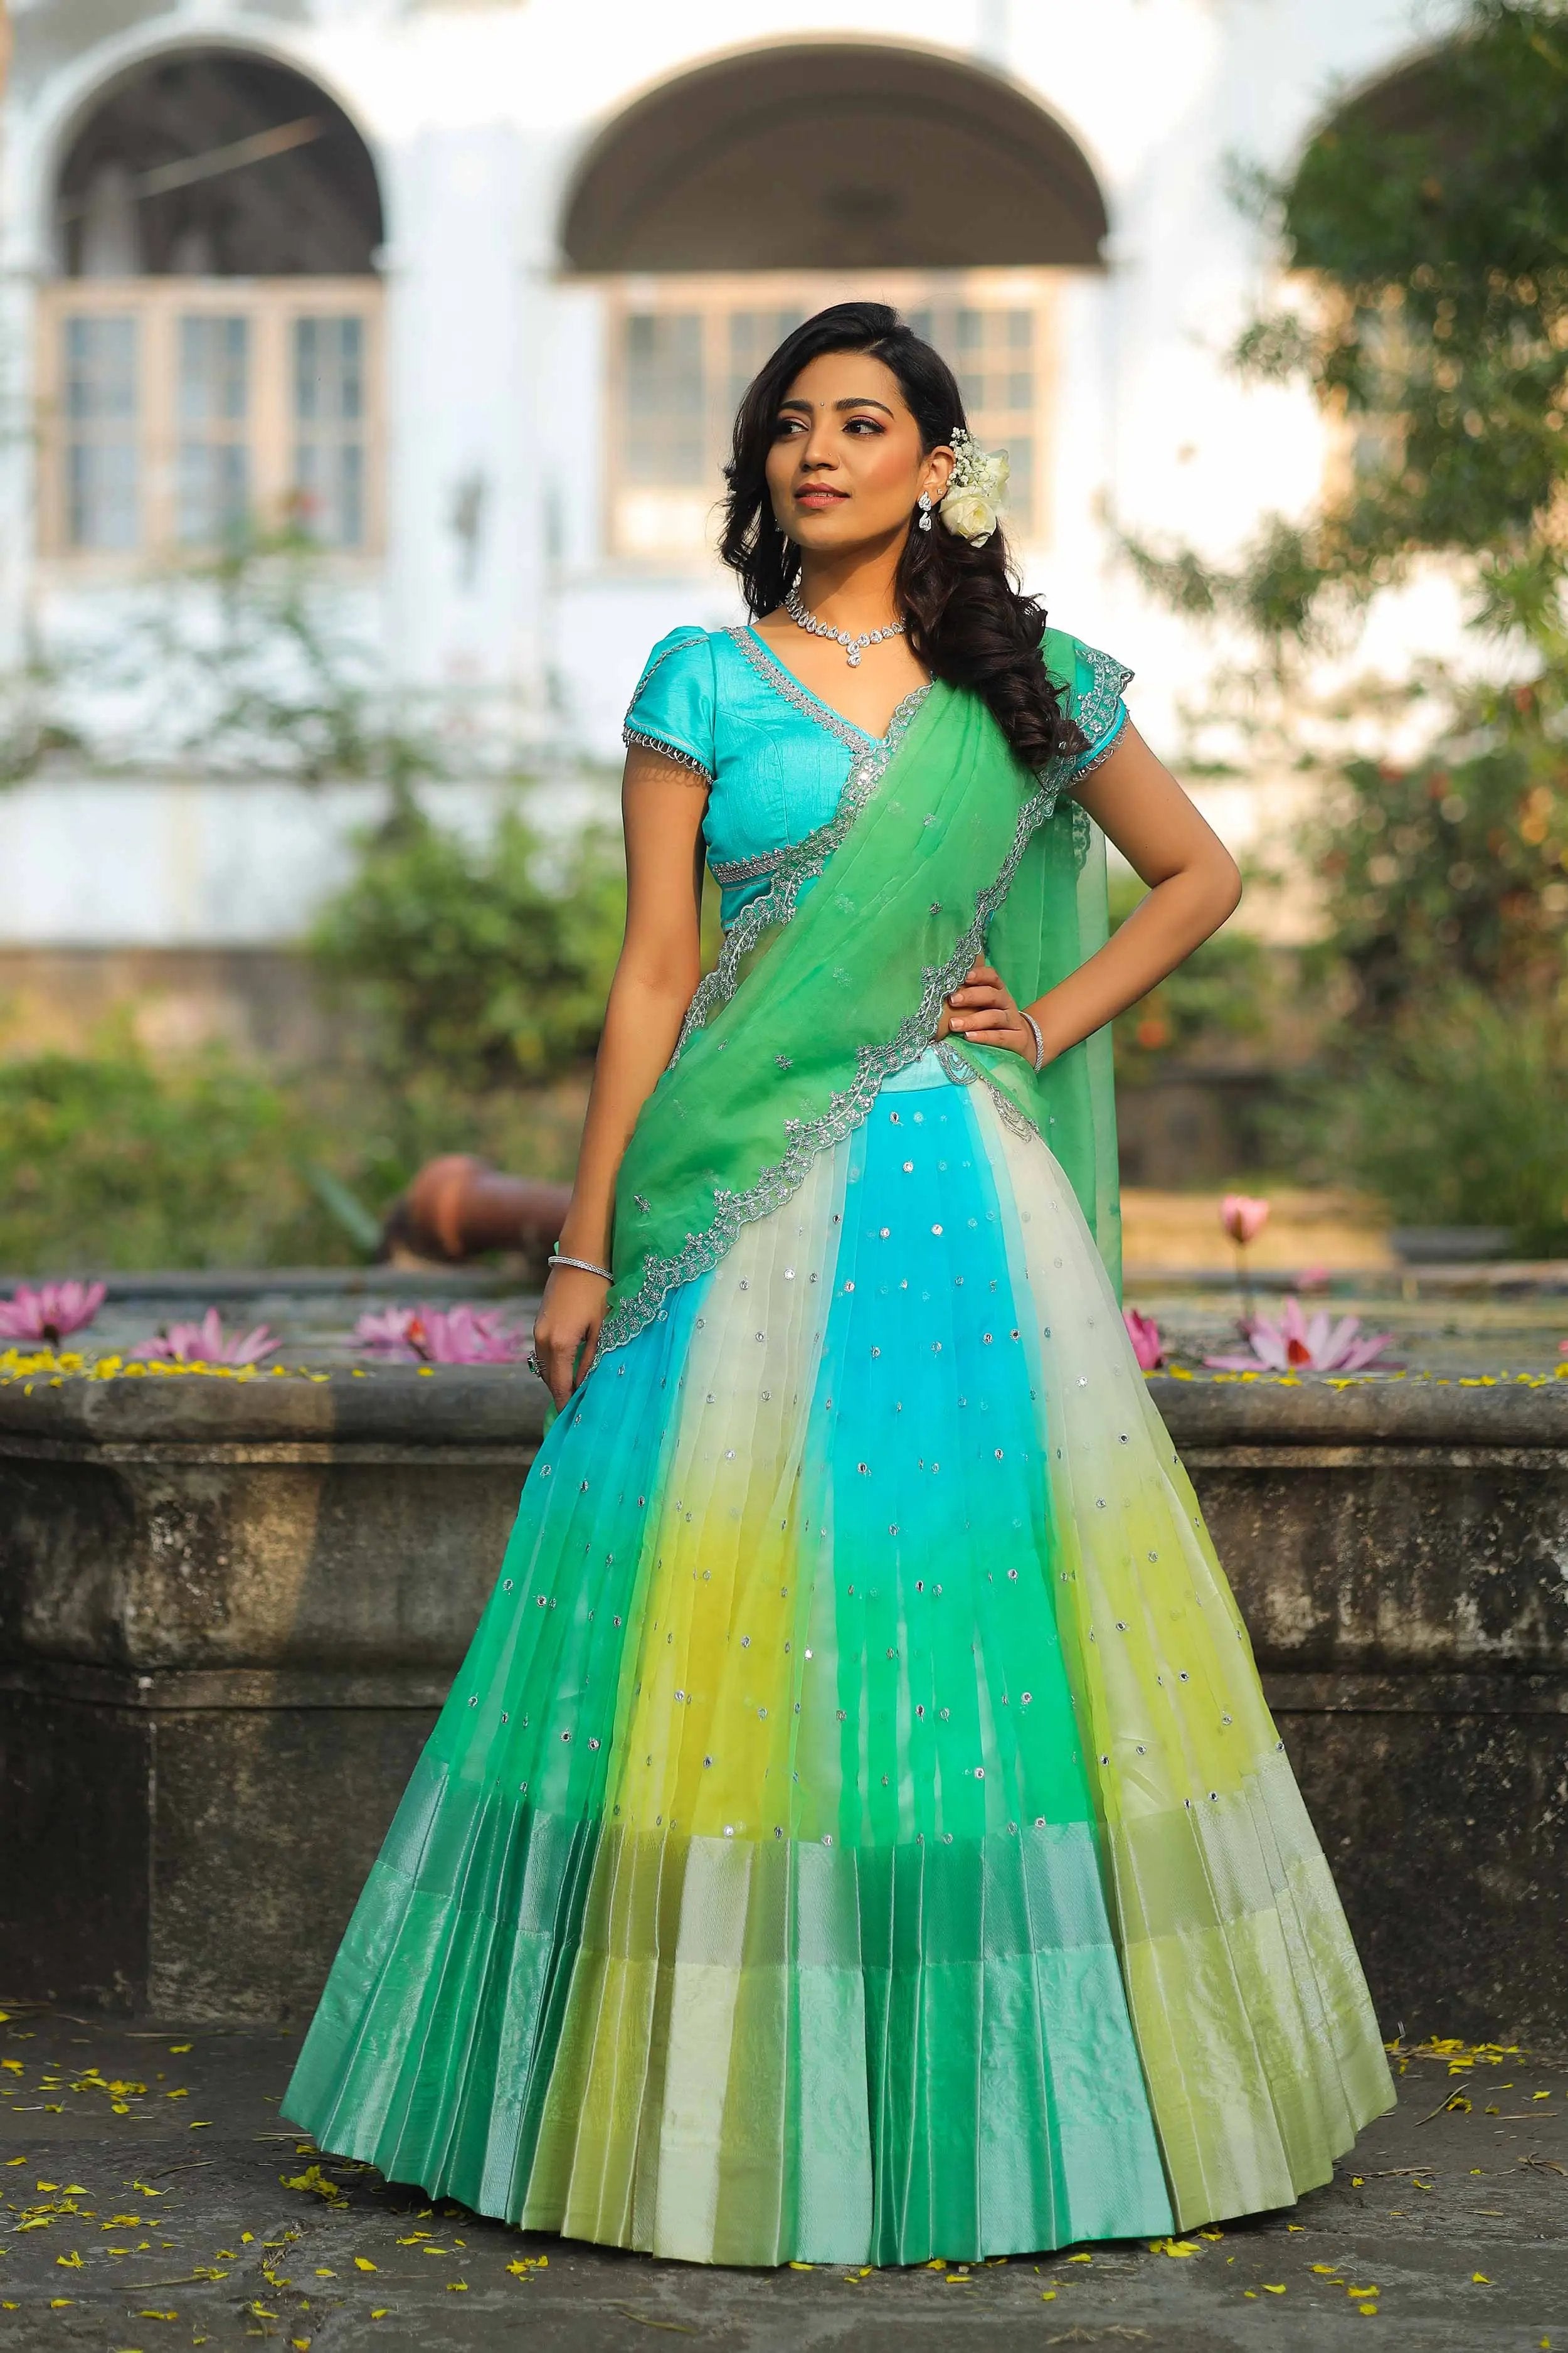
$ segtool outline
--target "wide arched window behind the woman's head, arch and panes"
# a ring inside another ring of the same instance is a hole
[[[609,294],[609,539],[696,555],[748,379],[823,304],[877,296],[954,365],[1046,539],[1058,296],[1105,202],[1067,132],[994,73],[858,42],[757,49],[628,108],[562,245]]]

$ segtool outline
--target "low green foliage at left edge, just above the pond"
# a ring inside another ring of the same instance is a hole
[[[259,1266],[353,1257],[301,1169],[313,1122],[209,1052],[155,1068],[127,1038],[0,1061],[0,1266]]]

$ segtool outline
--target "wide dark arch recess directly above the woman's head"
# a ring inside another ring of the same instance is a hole
[[[576,174],[576,271],[1093,266],[1105,198],[1027,92],[875,42],[748,49],[628,106]]]

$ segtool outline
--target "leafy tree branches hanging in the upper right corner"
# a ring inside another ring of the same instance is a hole
[[[1413,555],[1458,555],[1479,616],[1561,659],[1566,113],[1561,0],[1469,0],[1460,38],[1347,106],[1272,191],[1314,294],[1258,318],[1237,360],[1345,419],[1347,482],[1305,522],[1269,518],[1229,572],[1133,548],[1168,602],[1307,638]]]

